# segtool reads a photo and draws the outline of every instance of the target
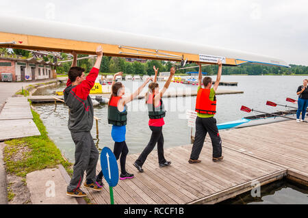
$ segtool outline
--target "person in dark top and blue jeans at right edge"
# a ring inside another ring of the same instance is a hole
[[[303,80],[303,85],[298,86],[296,94],[298,95],[298,109],[296,112],[296,121],[302,122],[305,120],[305,115],[308,107],[308,89],[307,89],[307,79]],[[300,120],[300,112],[302,113],[302,118]]]

